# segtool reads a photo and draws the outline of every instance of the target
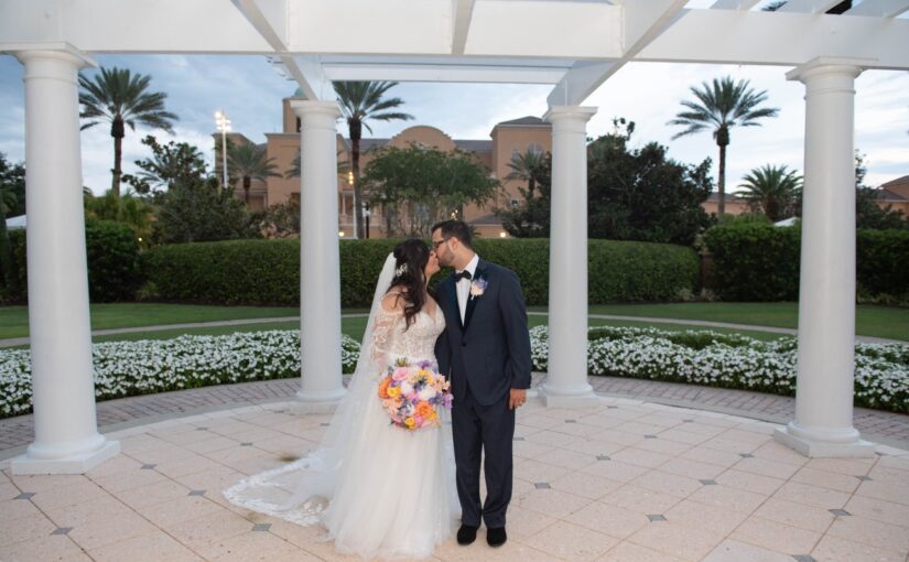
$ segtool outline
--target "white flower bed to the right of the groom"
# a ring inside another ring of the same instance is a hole
[[[545,326],[530,331],[534,370],[547,370]],[[760,342],[708,331],[591,328],[589,375],[670,380],[777,395],[796,391],[796,338]],[[855,402],[909,411],[909,345],[856,344]]]

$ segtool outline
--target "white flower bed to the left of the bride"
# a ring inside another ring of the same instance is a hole
[[[359,347],[359,342],[342,335],[345,372],[356,367]],[[99,400],[299,375],[299,331],[95,344],[95,395]],[[28,349],[0,350],[0,418],[31,411]]]

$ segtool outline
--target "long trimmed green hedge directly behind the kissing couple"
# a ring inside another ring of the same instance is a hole
[[[386,256],[398,240],[340,241],[340,299],[368,306]],[[529,305],[549,302],[549,240],[476,240],[484,258],[513,270]],[[697,256],[690,248],[610,240],[588,241],[591,303],[668,301],[693,291]],[[144,256],[156,298],[174,302],[296,305],[299,240],[235,240],[170,245]],[[317,267],[317,264],[314,264]],[[434,278],[444,279],[448,271]]]

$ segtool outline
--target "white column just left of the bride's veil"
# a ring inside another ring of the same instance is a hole
[[[340,372],[340,258],[334,101],[291,100],[301,120],[300,412],[331,411],[344,397]]]

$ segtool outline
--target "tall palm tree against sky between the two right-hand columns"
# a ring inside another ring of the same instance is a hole
[[[767,91],[754,91],[748,80],[734,82],[731,76],[714,78],[711,86],[706,82],[701,89],[692,87],[691,93],[697,101],[683,100],[688,108],[669,121],[669,125],[686,127],[672,137],[673,140],[685,134],[693,134],[706,129],[713,130],[713,138],[719,147],[719,171],[717,172],[717,191],[719,206],[717,215],[726,212],[726,147],[729,144],[729,129],[733,127],[758,127],[758,119],[777,117],[779,108],[758,106],[767,99]]]

